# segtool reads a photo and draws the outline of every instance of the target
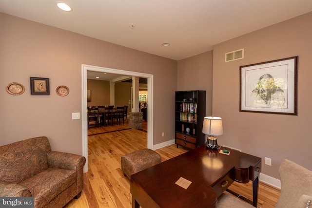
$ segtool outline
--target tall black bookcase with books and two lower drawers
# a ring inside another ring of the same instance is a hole
[[[176,91],[176,147],[195,149],[205,144],[202,133],[206,113],[206,91]]]

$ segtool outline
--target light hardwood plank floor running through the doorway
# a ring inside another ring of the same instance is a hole
[[[121,171],[120,158],[129,152],[147,147],[147,125],[133,130],[129,125],[90,128],[88,131],[88,172],[84,173],[84,187],[78,200],[65,208],[131,208],[130,181]],[[156,150],[162,161],[187,150],[170,145]],[[252,199],[252,183],[234,182],[230,189]],[[260,182],[258,208],[274,208],[279,189]]]

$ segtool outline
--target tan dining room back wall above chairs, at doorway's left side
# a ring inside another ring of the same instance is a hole
[[[88,106],[110,105],[110,83],[104,80],[87,80],[87,89],[91,90],[91,102]]]

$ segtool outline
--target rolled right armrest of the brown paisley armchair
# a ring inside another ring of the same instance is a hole
[[[77,189],[83,188],[83,166],[86,158],[78,154],[60,151],[49,151],[47,154],[49,168],[69,169],[77,171]]]

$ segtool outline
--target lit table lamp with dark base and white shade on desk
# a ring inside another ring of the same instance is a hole
[[[217,150],[219,146],[214,136],[223,134],[222,118],[205,116],[202,132],[204,134],[210,135],[210,137],[207,138],[206,147],[211,150]]]

